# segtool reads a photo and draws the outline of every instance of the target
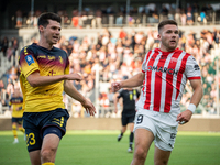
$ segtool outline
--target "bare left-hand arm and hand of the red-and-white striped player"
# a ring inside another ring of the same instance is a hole
[[[144,80],[144,73],[139,73],[127,80],[112,82],[111,88],[112,91],[116,92],[121,88],[139,87],[143,84],[143,80]]]

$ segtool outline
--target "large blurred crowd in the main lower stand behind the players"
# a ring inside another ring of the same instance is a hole
[[[185,35],[183,31],[179,33],[178,47],[190,53],[198,62],[201,68],[205,96],[201,101],[202,107],[208,113],[217,113],[217,81],[220,84],[220,76],[217,75],[216,69],[216,56],[213,50],[220,48],[220,30],[200,32],[200,36],[196,36],[194,32]],[[36,42],[37,40],[33,40]],[[31,43],[30,43],[31,44]],[[61,37],[58,44],[55,45],[66,51],[69,62],[70,72],[80,73],[84,79],[79,81],[73,81],[77,90],[84,96],[90,97],[95,92],[95,79],[96,70],[99,72],[101,82],[109,84],[112,80],[124,79],[135,75],[141,70],[142,62],[145,53],[151,48],[158,47],[157,31],[150,30],[147,32],[125,32],[120,30],[118,36],[112,36],[108,29],[103,29],[102,32],[97,34],[97,38],[84,38],[72,37],[69,40],[64,36]],[[16,38],[3,37],[1,41],[1,52],[3,56],[7,56],[10,61],[10,56],[19,53],[19,42]],[[218,52],[219,54],[220,52]],[[15,63],[14,63],[15,64]],[[1,105],[8,106],[9,99],[13,95],[14,87],[20,86],[19,82],[19,68],[13,65],[8,73],[7,82],[0,80],[1,90]],[[189,103],[188,86],[183,95],[182,107]],[[64,94],[64,101],[74,117],[84,117],[82,108],[80,103],[73,102]],[[112,107],[112,92],[110,88],[108,92],[99,94],[99,106],[107,109],[106,117],[116,117],[113,113],[109,113]],[[74,107],[73,107],[74,106]],[[109,111],[108,111],[109,110]],[[110,111],[112,112],[112,111]],[[201,113],[201,109],[197,109],[197,113]]]

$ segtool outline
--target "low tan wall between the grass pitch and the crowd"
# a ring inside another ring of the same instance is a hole
[[[120,130],[119,118],[70,118],[67,130]],[[0,131],[11,130],[11,119],[0,119]],[[179,131],[220,132],[220,118],[193,118],[189,123],[179,125]]]

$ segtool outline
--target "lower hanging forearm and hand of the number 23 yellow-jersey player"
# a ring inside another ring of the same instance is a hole
[[[88,99],[86,99],[79,91],[77,91],[69,80],[64,81],[64,91],[72,98],[79,101],[86,109],[87,113],[89,112],[90,116],[94,116],[96,113],[95,106]]]

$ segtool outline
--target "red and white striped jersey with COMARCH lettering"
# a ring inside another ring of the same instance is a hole
[[[196,59],[179,48],[173,52],[150,51],[142,72],[145,78],[136,107],[165,113],[180,111],[179,102],[187,79],[201,79]]]

